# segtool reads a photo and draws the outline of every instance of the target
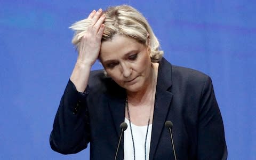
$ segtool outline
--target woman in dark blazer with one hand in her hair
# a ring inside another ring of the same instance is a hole
[[[71,26],[78,58],[54,119],[50,144],[62,154],[90,142],[91,159],[226,159],[211,78],[171,65],[147,20],[131,6],[95,11]],[[99,59],[105,70],[91,71]]]

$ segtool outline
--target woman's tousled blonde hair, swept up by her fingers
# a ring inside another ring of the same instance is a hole
[[[106,19],[103,22],[105,29],[101,41],[108,41],[115,35],[123,35],[134,38],[137,42],[149,46],[151,62],[158,62],[163,57],[163,51],[159,50],[159,42],[148,21],[143,15],[129,5],[111,6],[106,11]],[[89,19],[83,19],[74,23],[71,27],[75,31],[72,43],[79,46],[80,39],[86,34],[90,26]]]

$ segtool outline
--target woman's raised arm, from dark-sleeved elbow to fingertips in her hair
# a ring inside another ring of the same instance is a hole
[[[85,91],[91,66],[100,52],[101,37],[104,30],[102,24],[105,15],[102,10],[93,10],[86,21],[90,25],[78,39],[78,57],[62,95],[50,135],[51,148],[61,154],[74,154],[87,147],[90,142],[89,113],[87,110]],[[83,27],[83,26],[82,26]]]

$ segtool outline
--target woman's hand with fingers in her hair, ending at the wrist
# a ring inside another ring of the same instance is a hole
[[[99,57],[101,38],[104,31],[103,21],[106,15],[102,10],[93,10],[87,19],[91,25],[87,28],[85,35],[81,38],[78,46],[77,63],[92,66]]]

